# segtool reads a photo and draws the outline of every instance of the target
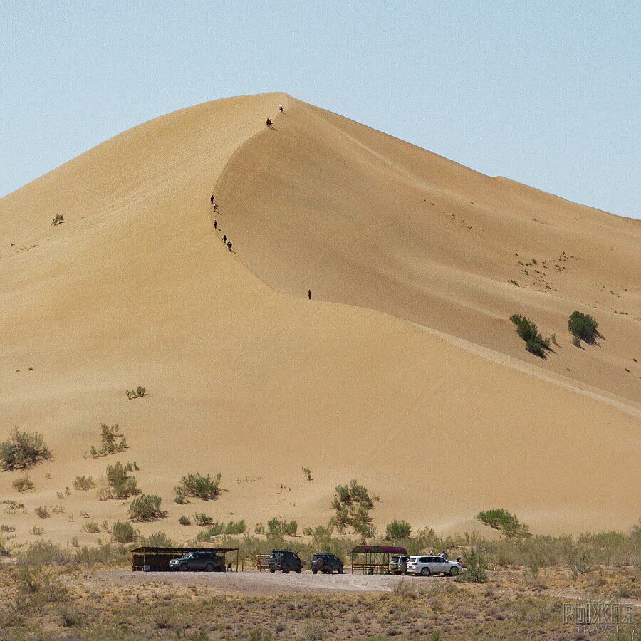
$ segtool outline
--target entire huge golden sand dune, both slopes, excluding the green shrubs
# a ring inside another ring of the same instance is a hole
[[[194,511],[325,523],[352,478],[380,494],[380,528],[471,528],[498,506],[535,532],[626,528],[641,515],[640,241],[637,221],[284,94],[135,127],[0,199],[0,437],[37,430],[54,453],[34,491],[0,474],[26,511],[0,523],[96,541],[80,511],[124,520],[128,501],[73,478],[135,459],[168,511],[140,530],[182,539]],[[575,308],[599,345],[571,345]],[[546,361],[514,312],[556,332]],[[149,395],[127,400],[137,385]],[[126,454],[85,458],[101,422]],[[220,471],[224,493],[175,504],[195,469]],[[40,505],[64,512],[40,521]]]

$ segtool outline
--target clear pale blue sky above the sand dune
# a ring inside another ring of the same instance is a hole
[[[641,218],[639,6],[0,0],[0,195],[157,115],[282,90]]]

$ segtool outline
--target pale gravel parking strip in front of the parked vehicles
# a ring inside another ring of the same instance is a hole
[[[401,577],[393,575],[360,575],[360,574],[302,574],[269,572],[130,572],[98,571],[92,573],[89,582],[95,587],[108,590],[134,585],[175,585],[189,587],[192,585],[211,588],[221,594],[292,594],[292,593],[353,593],[353,592],[391,592],[400,580],[416,582],[418,585],[429,585],[435,581],[452,580],[444,576]]]

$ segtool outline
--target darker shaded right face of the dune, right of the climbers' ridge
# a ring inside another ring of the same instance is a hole
[[[270,286],[379,309],[641,402],[640,221],[298,100],[274,127],[236,152],[217,187],[241,261]],[[571,344],[575,309],[598,319],[598,345]],[[545,361],[524,350],[514,313],[556,334]]]

